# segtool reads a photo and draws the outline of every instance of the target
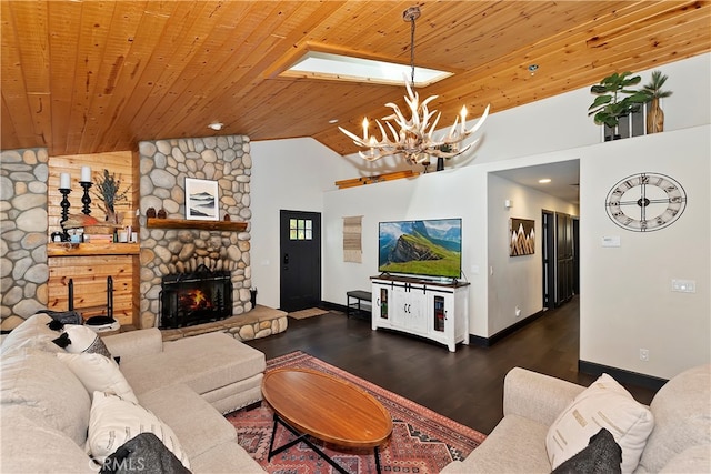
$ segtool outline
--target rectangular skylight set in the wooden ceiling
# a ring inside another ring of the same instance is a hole
[[[280,75],[401,85],[405,79],[411,80],[412,68],[409,64],[309,51]],[[450,75],[451,72],[415,67],[414,85],[430,85]]]

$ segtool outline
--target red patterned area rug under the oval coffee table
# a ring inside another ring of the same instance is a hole
[[[341,377],[372,394],[392,416],[392,436],[380,447],[383,473],[439,473],[453,460],[462,460],[479,446],[485,435],[425,409],[408,399],[379,387],[309,354],[297,351],[267,361],[267,371],[279,367],[308,367]],[[347,414],[344,414],[347,415]],[[257,462],[272,474],[326,474],[333,467],[304,443],[267,461],[273,426],[272,412],[262,404],[253,410],[227,415],[237,428],[239,443]],[[276,446],[293,436],[279,426]],[[349,473],[375,473],[372,450],[347,450],[317,442],[329,456]]]

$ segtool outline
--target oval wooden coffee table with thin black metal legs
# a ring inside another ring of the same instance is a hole
[[[264,374],[262,394],[274,411],[269,460],[304,442],[341,473],[347,471],[308,437],[344,447],[372,447],[380,472],[379,446],[392,433],[390,413],[372,395],[323,372],[309,369],[279,369]],[[273,448],[281,424],[296,440]]]

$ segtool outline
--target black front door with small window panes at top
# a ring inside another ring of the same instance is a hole
[[[280,303],[291,312],[321,303],[321,214],[280,211]]]

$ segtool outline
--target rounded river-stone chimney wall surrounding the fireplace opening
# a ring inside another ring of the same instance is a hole
[[[210,270],[230,270],[233,314],[251,309],[250,285],[250,177],[249,138],[227,135],[143,141],[140,153],[140,324],[159,325],[163,275],[189,272],[204,264]],[[246,232],[148,229],[149,208],[166,211],[169,219],[186,219],[186,178],[216,180],[219,215],[247,221]]]

